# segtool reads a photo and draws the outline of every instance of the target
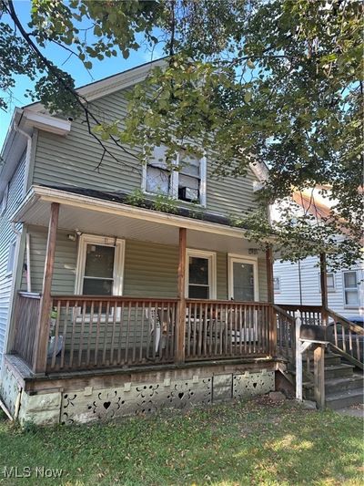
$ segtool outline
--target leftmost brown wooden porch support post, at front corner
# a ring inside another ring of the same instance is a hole
[[[45,272],[43,274],[42,297],[39,306],[39,317],[35,331],[35,349],[33,357],[33,371],[45,373],[46,354],[49,338],[49,315],[52,298],[52,276],[56,253],[56,231],[58,226],[59,203],[52,202],[51,215],[48,225],[48,238],[45,252]]]

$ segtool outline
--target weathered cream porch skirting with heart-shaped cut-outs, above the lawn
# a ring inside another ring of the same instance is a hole
[[[18,365],[15,357],[5,364],[1,393],[25,426],[108,421],[262,395],[275,390],[277,364],[209,363],[59,377],[21,376]]]

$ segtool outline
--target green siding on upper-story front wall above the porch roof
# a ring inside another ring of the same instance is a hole
[[[97,116],[106,121],[123,119],[126,116],[125,94],[125,90],[120,90],[94,102],[92,106]],[[96,171],[103,150],[87,133],[86,123],[82,123],[81,119],[73,121],[71,133],[66,138],[39,131],[33,182],[99,191],[140,190],[140,162],[117,149],[113,143],[106,142],[106,145],[118,161],[106,154],[102,166]],[[137,151],[131,150],[134,154]],[[253,192],[255,176],[251,171],[248,171],[246,177],[228,177],[222,180],[211,178],[211,171],[207,160],[207,212],[228,215],[233,212],[246,212],[257,206]],[[181,205],[186,203],[181,202]]]

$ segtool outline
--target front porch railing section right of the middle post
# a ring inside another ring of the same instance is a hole
[[[270,305],[187,299],[186,360],[268,356]]]

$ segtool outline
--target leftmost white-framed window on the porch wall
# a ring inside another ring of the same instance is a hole
[[[76,294],[122,295],[125,241],[83,234],[79,239]]]

